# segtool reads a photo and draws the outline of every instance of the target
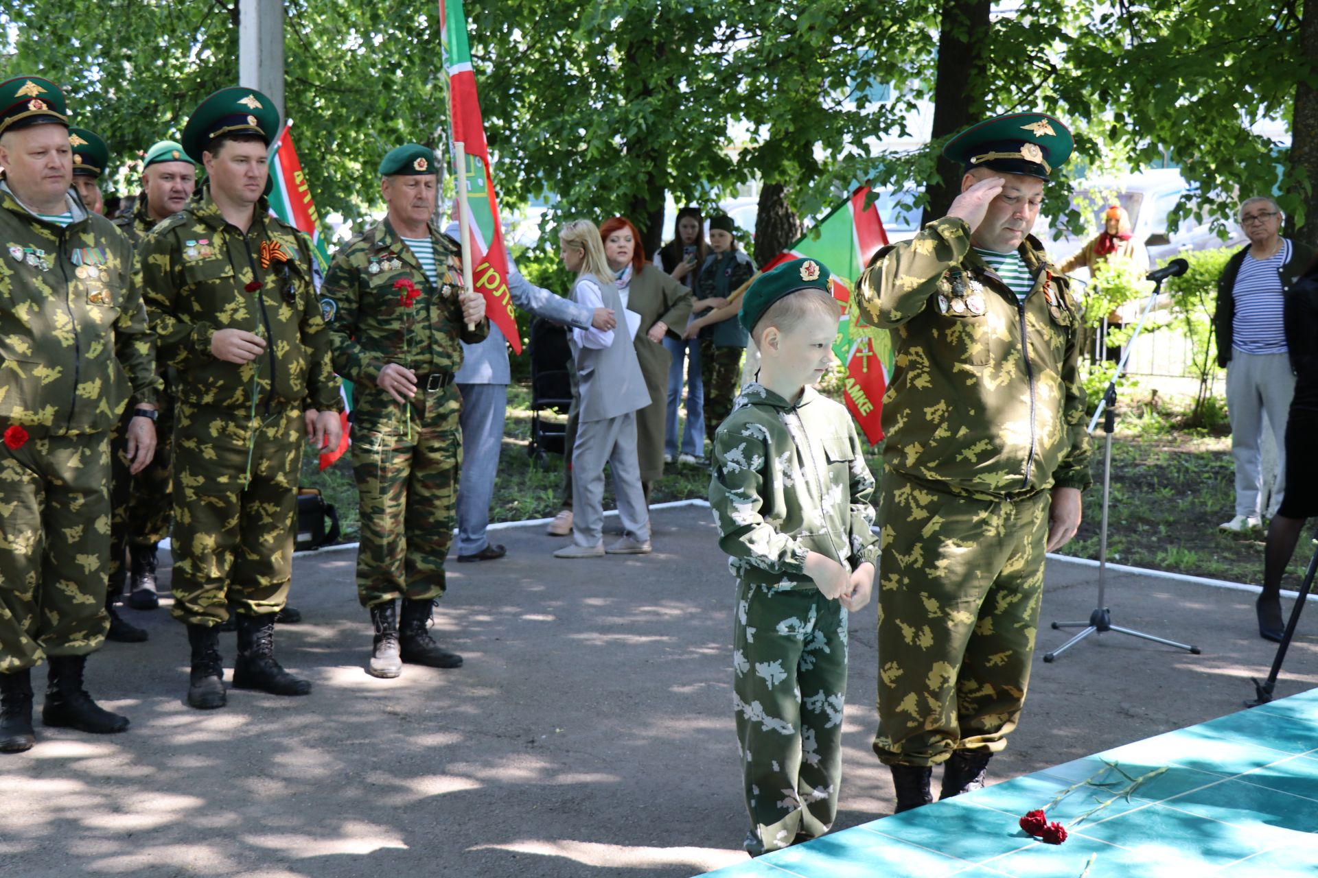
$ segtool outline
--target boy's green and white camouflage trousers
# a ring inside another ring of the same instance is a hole
[[[737,583],[733,702],[751,856],[817,839],[837,816],[846,616],[813,588]]]

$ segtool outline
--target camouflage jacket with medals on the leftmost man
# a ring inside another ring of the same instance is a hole
[[[71,225],[37,219],[0,183],[0,429],[95,433],[154,403],[156,345],[133,251],[70,199]]]

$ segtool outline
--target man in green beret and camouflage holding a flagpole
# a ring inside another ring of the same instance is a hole
[[[353,382],[352,459],[361,503],[357,596],[376,634],[368,673],[459,667],[427,632],[444,594],[461,465],[459,342],[489,334],[485,299],[464,296],[460,247],[435,229],[432,150],[380,163],[389,213],[348,241],[320,287],[333,365]],[[402,617],[397,602],[402,599]]]

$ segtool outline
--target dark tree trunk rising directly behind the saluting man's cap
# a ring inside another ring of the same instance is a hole
[[[983,116],[983,90],[977,83],[983,82],[991,9],[991,0],[942,0],[932,140],[954,134]],[[961,194],[961,167],[940,157],[938,174],[942,180],[928,188],[923,222],[946,216]]]

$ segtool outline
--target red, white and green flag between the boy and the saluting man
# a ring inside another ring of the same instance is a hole
[[[870,258],[888,242],[879,209],[865,207],[870,187],[862,186],[851,197],[820,220],[809,233],[775,257],[764,271],[788,259],[817,259],[833,272],[833,296],[846,305],[833,340],[833,353],[846,363],[846,409],[861,425],[865,438],[883,438],[880,425],[883,394],[892,371],[892,342],[886,329],[867,325],[851,297],[851,287]]]

